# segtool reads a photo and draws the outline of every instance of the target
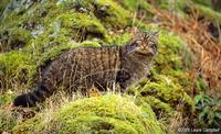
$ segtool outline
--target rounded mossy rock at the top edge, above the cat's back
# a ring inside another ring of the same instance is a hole
[[[129,12],[113,0],[75,0],[74,7],[76,11],[93,12],[105,27],[126,27],[130,24]]]

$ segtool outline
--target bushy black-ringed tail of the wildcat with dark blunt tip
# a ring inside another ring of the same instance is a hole
[[[18,96],[13,101],[13,105],[24,108],[34,107],[36,102],[44,101],[52,93],[53,90],[50,90],[48,87],[41,83],[32,92]]]

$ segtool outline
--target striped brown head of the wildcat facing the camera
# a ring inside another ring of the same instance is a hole
[[[140,32],[130,42],[127,54],[155,56],[158,53],[159,32]]]

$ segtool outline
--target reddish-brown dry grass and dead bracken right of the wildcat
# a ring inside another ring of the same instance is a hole
[[[197,77],[204,79],[210,93],[213,97],[221,97],[215,91],[221,90],[221,42],[209,32],[209,25],[212,24],[207,19],[202,19],[199,10],[193,8],[186,18],[180,18],[176,12],[160,11],[155,9],[157,22],[147,22],[158,24],[168,31],[177,33],[194,53],[197,57],[191,71],[192,81]],[[220,30],[218,30],[220,32]],[[194,90],[194,93],[199,91]]]

